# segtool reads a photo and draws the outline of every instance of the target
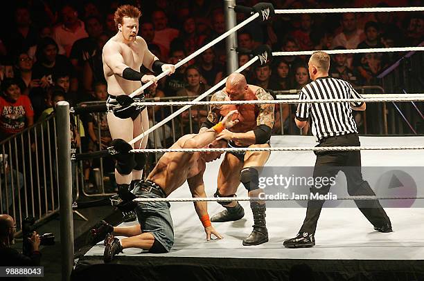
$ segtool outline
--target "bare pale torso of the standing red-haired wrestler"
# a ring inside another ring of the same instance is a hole
[[[150,61],[151,53],[148,51],[147,44],[141,37],[136,37],[134,42],[125,44],[116,39],[116,35],[109,39],[103,48],[103,72],[107,81],[107,93],[109,95],[130,95],[134,90],[141,87],[141,81],[130,81],[115,75],[113,70],[105,64],[105,49],[117,48],[123,57],[123,63],[134,70],[139,70],[143,61]],[[147,51],[147,52],[146,52]],[[146,58],[148,56],[148,58]],[[149,66],[146,66],[149,68]]]

